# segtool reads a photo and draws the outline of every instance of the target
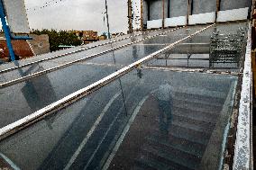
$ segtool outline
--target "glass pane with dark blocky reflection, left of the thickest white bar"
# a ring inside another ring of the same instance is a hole
[[[0,89],[1,128],[114,73],[120,67],[76,64]],[[43,67],[32,67],[43,70]]]

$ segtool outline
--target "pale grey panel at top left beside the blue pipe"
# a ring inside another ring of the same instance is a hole
[[[7,21],[12,32],[30,33],[24,0],[3,0]]]

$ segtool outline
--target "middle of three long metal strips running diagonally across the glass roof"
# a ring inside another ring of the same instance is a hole
[[[176,29],[173,29],[173,30],[170,30],[170,31],[162,32],[162,33],[160,33],[160,34],[156,34],[156,35],[153,35],[153,36],[149,36],[149,37],[146,37],[145,39],[142,39],[142,40],[135,40],[135,41],[133,41],[133,42],[130,42],[130,43],[127,43],[127,44],[123,44],[122,46],[119,46],[119,47],[116,47],[116,48],[113,48],[113,49],[107,49],[107,50],[105,50],[105,51],[103,51],[103,52],[99,52],[99,53],[96,53],[96,54],[87,56],[87,57],[85,57],[85,58],[79,58],[79,59],[77,59],[77,60],[67,62],[67,63],[62,64],[62,65],[59,65],[59,66],[57,66],[57,67],[51,67],[51,68],[49,68],[49,69],[45,69],[45,70],[42,70],[42,71],[33,73],[33,74],[31,74],[31,75],[28,75],[28,76],[23,76],[23,77],[14,79],[14,80],[10,80],[10,81],[8,81],[8,82],[5,82],[5,83],[3,83],[3,84],[0,84],[0,88],[5,88],[6,86],[10,86],[10,85],[15,85],[15,84],[21,83],[21,82],[23,82],[23,81],[25,81],[25,80],[28,80],[28,79],[30,79],[30,78],[32,78],[32,77],[41,76],[41,75],[44,75],[44,74],[53,72],[53,71],[58,70],[58,69],[63,68],[63,67],[69,67],[69,66],[71,66],[71,65],[73,65],[73,64],[75,64],[75,63],[78,63],[78,62],[81,62],[81,61],[86,61],[86,60],[92,59],[92,58],[96,58],[96,57],[101,56],[101,55],[104,55],[104,54],[106,54],[106,53],[108,53],[108,52],[111,52],[111,51],[114,51],[114,50],[117,50],[117,49],[123,49],[123,48],[125,48],[125,47],[127,47],[127,46],[130,46],[130,45],[133,45],[133,44],[135,44],[135,43],[142,42],[143,40],[149,40],[149,39],[152,39],[152,38],[154,38],[154,37],[157,37],[157,36],[159,36],[159,35],[161,35],[161,34],[169,33],[169,32],[171,32],[171,31],[176,31],[176,30],[178,30],[178,29],[180,29],[180,28],[176,28]]]

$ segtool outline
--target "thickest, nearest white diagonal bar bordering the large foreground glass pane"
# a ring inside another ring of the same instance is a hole
[[[61,109],[69,106],[72,103],[78,102],[78,100],[82,99],[83,97],[87,96],[88,94],[95,92],[97,89],[100,89],[102,86],[110,84],[118,77],[123,76],[123,75],[127,74],[128,72],[132,71],[133,68],[140,66],[142,63],[147,62],[147,61],[151,60],[152,58],[156,58],[160,53],[162,53],[166,50],[169,50],[171,48],[174,48],[174,46],[177,45],[178,43],[180,43],[184,40],[187,40],[187,39],[191,39],[193,36],[197,35],[198,33],[202,32],[202,31],[206,31],[206,29],[208,29],[214,25],[215,25],[215,23],[211,24],[211,25],[207,26],[206,28],[203,28],[191,35],[188,35],[186,38],[183,38],[181,40],[173,42],[173,43],[169,44],[168,47],[160,49],[160,50],[152,53],[151,55],[134,62],[133,64],[131,64],[127,67],[123,67],[123,68],[119,69],[118,71],[114,72],[113,74],[111,74],[109,76],[105,76],[105,78],[102,78],[101,80],[97,81],[96,83],[94,83],[92,85],[88,85],[87,87],[82,88],[73,94],[69,94],[68,96],[60,99],[59,101],[57,101],[55,103],[51,103],[50,105],[42,108],[41,110],[39,110],[37,112],[34,112],[34,113],[24,117],[23,119],[21,119],[19,121],[15,121],[14,123],[11,123],[11,124],[5,126],[4,128],[0,129],[0,140],[9,137],[10,135],[14,134],[17,131],[23,130],[24,128],[32,125],[33,123],[35,123],[37,121],[41,121],[43,118],[45,118],[46,116],[48,116],[54,112],[59,112]]]

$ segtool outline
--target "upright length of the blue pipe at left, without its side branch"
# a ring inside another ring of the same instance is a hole
[[[4,4],[3,4],[2,0],[0,0],[0,18],[1,18],[1,22],[2,22],[3,31],[5,32],[5,39],[6,39],[6,43],[7,43],[7,48],[9,50],[10,59],[12,61],[14,61],[15,54],[14,54],[14,48],[13,48],[12,41],[11,41],[11,32],[10,32],[10,29],[5,20],[5,9],[4,9]]]

